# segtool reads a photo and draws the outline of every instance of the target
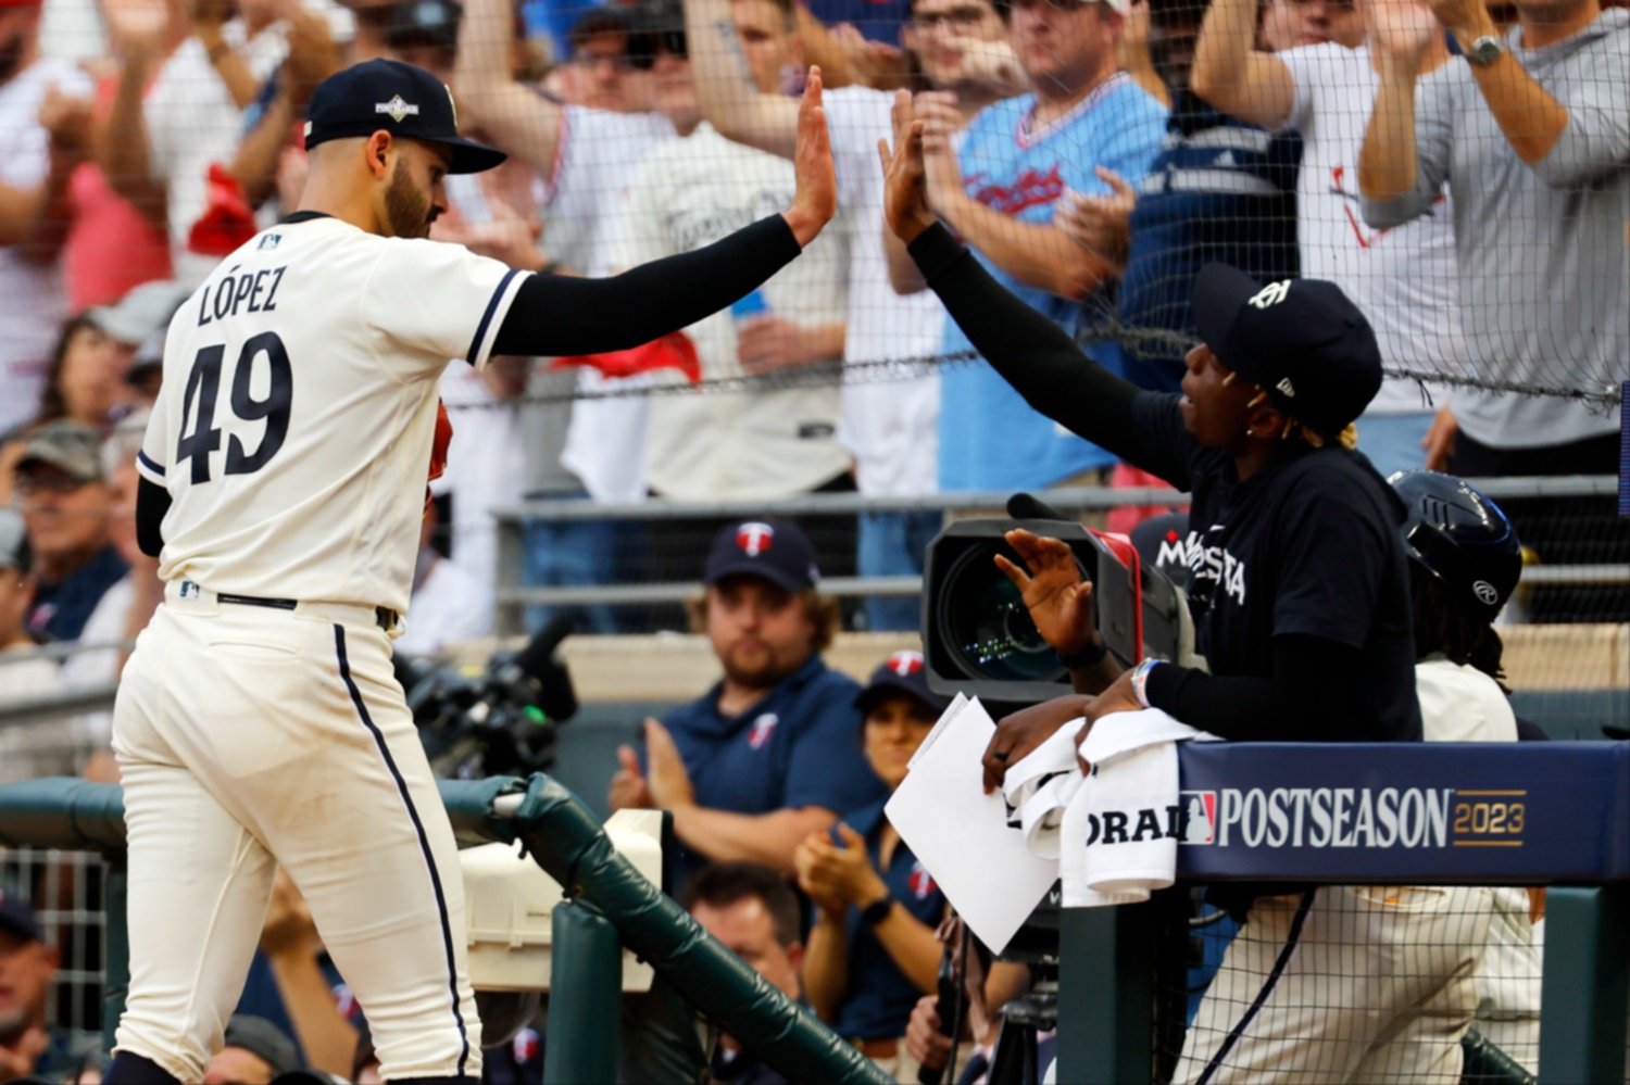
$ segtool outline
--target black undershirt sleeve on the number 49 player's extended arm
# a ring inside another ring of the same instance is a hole
[[[628,350],[694,324],[792,262],[799,239],[781,215],[693,253],[610,279],[528,275],[499,326],[492,354],[570,355]]]

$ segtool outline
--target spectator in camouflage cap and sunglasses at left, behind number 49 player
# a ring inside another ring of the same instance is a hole
[[[77,640],[103,593],[129,572],[112,546],[101,433],[67,419],[31,432],[13,487],[34,554],[28,629],[36,637]]]

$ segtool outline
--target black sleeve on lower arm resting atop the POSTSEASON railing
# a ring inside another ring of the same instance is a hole
[[[1364,741],[1361,650],[1324,637],[1273,639],[1273,678],[1219,678],[1162,663],[1149,671],[1149,704],[1190,727],[1232,741]]]

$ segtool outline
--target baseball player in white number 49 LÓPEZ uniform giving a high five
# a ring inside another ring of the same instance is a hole
[[[287,868],[390,1082],[481,1075],[453,832],[391,676],[448,358],[616,350],[730,305],[831,218],[820,77],[792,207],[605,280],[425,239],[504,155],[393,60],[311,99],[302,210],[181,306],[139,458],[165,604],[114,709],[130,994],[108,1082],[197,1082]]]

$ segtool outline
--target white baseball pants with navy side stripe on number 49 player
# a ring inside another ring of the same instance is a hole
[[[202,1080],[280,863],[362,1004],[385,1078],[479,1077],[456,844],[373,609],[277,611],[179,588],[114,707],[130,852],[116,1051]]]

